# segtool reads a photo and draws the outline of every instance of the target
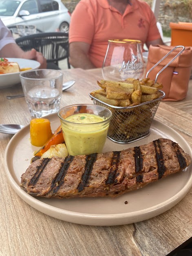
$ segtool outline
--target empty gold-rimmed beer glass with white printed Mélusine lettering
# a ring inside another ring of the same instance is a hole
[[[143,77],[143,55],[139,40],[108,40],[102,66],[105,80],[121,81]]]

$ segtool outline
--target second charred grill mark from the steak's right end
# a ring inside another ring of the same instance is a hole
[[[159,179],[163,177],[164,172],[166,171],[164,159],[163,159],[163,153],[161,151],[161,140],[157,139],[153,141],[155,153],[156,153],[156,159],[157,159],[157,172],[159,174]]]

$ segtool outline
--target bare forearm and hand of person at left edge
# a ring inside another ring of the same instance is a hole
[[[36,60],[40,62],[40,68],[46,68],[46,59],[43,57],[42,53],[37,52],[35,49],[24,52],[17,44],[14,43],[6,44],[0,50],[0,55],[2,57]]]

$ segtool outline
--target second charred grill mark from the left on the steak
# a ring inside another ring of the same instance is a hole
[[[57,193],[57,191],[59,190],[60,186],[64,183],[64,177],[67,173],[67,170],[71,164],[71,162],[73,161],[74,156],[69,156],[66,157],[64,162],[62,163],[62,166],[57,174],[57,176],[55,177],[55,179],[53,179],[52,183],[51,183],[51,189],[54,193]],[[49,192],[50,192],[49,191]]]

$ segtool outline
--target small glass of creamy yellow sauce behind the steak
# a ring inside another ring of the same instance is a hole
[[[58,112],[69,155],[101,153],[112,113],[108,108],[78,104]]]

